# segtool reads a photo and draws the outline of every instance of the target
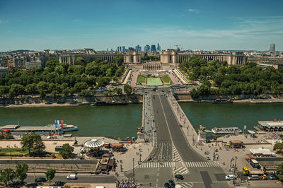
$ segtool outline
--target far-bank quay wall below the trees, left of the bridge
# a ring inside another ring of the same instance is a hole
[[[73,102],[74,104],[80,105],[80,103],[92,103],[97,101],[102,102],[127,102],[127,103],[141,103],[143,100],[142,95],[113,95],[113,96],[105,96],[105,95],[93,95],[93,96],[69,96],[62,97],[58,96],[57,98],[52,98],[51,96],[45,97],[45,99],[40,99],[38,95],[34,96],[26,96],[22,98],[0,98],[0,105],[23,105],[23,104],[37,104],[37,103],[66,103]]]

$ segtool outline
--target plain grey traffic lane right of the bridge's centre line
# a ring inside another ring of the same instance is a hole
[[[180,127],[178,127],[178,121],[175,118],[174,112],[171,110],[171,106],[169,105],[166,96],[161,95],[161,102],[167,117],[173,143],[178,153],[180,153],[181,158],[184,161],[205,161],[202,155],[196,153],[190,146],[188,146]]]

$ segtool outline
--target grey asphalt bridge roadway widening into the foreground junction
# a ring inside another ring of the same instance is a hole
[[[151,153],[152,160],[135,168],[136,182],[143,187],[164,187],[168,180],[183,187],[229,187],[219,165],[208,162],[187,143],[166,95],[158,92],[150,92],[150,95],[157,143]],[[175,174],[182,174],[184,180],[176,180]]]

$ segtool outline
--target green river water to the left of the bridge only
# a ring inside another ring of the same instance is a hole
[[[141,126],[141,104],[118,106],[76,107],[1,107],[0,125],[44,126],[54,124],[54,119],[74,124],[79,131],[75,136],[106,136],[110,138],[137,137]]]

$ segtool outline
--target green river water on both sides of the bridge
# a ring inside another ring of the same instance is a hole
[[[212,104],[211,102],[180,103],[195,129],[199,125],[212,127],[239,127],[253,129],[259,120],[283,119],[283,103]],[[141,126],[141,104],[121,106],[76,107],[0,107],[0,125],[17,124],[43,126],[64,119],[79,131],[75,136],[107,136],[110,138],[137,137]]]

